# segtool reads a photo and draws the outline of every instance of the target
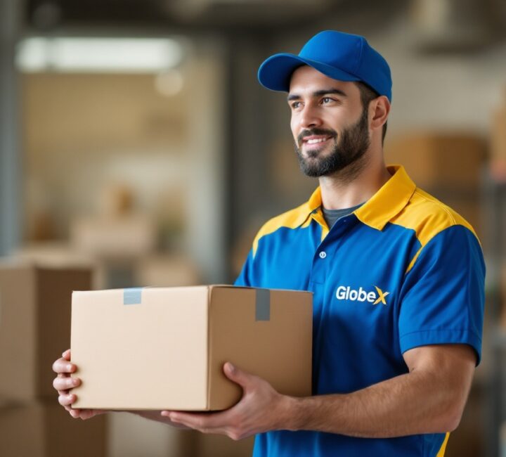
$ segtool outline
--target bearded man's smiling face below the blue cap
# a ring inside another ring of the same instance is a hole
[[[288,104],[301,170],[313,177],[340,172],[370,146],[368,111],[353,82],[337,81],[312,67],[294,71]]]

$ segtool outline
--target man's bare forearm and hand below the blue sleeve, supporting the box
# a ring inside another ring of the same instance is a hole
[[[398,437],[457,427],[472,382],[476,355],[467,345],[435,345],[404,354],[409,373],[350,394],[294,398],[229,363],[242,386],[239,403],[214,414],[164,411],[176,423],[242,439],[269,430],[316,430],[356,437]]]

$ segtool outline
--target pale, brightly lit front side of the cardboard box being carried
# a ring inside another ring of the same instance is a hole
[[[74,293],[72,361],[78,408],[205,409],[207,288]]]

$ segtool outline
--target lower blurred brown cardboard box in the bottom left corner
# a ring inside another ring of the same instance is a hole
[[[56,398],[0,406],[2,457],[102,457],[105,431],[105,416],[72,419]]]

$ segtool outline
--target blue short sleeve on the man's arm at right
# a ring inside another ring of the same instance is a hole
[[[481,359],[485,264],[476,236],[455,225],[422,248],[406,274],[398,321],[401,352],[413,347],[466,344]]]

